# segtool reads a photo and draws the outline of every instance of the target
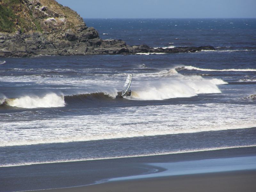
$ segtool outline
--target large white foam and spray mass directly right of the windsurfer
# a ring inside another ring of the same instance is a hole
[[[155,73],[136,74],[132,82],[132,100],[164,100],[193,97],[201,93],[221,93],[217,85],[228,84],[221,79],[205,79],[198,75],[182,75],[175,68]]]

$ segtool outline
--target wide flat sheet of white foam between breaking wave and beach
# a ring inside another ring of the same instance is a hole
[[[2,117],[0,147],[245,129],[256,127],[255,110],[223,103],[119,107],[115,113],[33,121],[17,113],[18,122],[15,114]]]

